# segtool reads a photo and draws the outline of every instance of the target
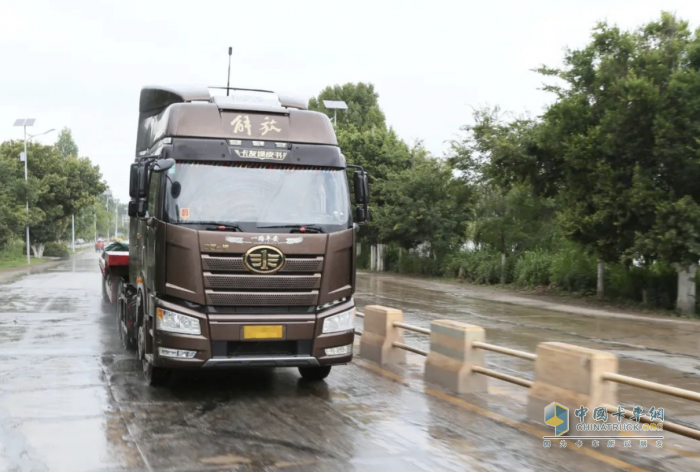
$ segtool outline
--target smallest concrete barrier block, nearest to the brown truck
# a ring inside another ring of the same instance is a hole
[[[403,330],[394,322],[403,321],[403,311],[379,305],[365,307],[365,323],[360,340],[360,356],[379,365],[406,362],[406,351],[393,346],[403,343]]]

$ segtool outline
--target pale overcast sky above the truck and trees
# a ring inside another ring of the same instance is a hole
[[[22,138],[17,118],[68,127],[126,201],[141,87],[225,85],[232,46],[232,86],[308,99],[371,82],[388,124],[441,155],[475,108],[539,115],[552,97],[532,70],[597,22],[634,29],[662,10],[700,27],[698,0],[0,0],[0,141]]]

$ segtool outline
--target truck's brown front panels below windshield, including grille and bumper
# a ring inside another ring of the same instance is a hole
[[[354,230],[268,234],[197,231],[163,224],[162,240],[165,250],[156,252],[156,266],[162,265],[161,293],[172,300],[157,303],[198,317],[202,334],[157,332],[157,346],[195,350],[197,354],[183,360],[156,356],[156,365],[201,367],[212,358],[212,342],[245,342],[242,333],[247,325],[281,325],[280,341],[311,341],[312,356],[321,365],[352,359],[352,355],[325,356],[325,349],[352,344],[354,332],[322,334],[322,329],[324,318],[354,305],[349,300],[354,291]],[[257,274],[246,267],[246,252],[262,245],[274,246],[284,255],[285,264],[279,271]],[[340,298],[348,300],[317,314],[318,305]],[[188,309],[178,300],[201,307]],[[288,311],[295,307],[296,311]]]

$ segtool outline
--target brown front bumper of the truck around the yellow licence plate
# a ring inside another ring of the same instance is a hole
[[[347,364],[352,353],[326,356],[327,348],[351,345],[354,330],[323,334],[323,319],[348,310],[353,302],[344,303],[320,314],[303,315],[207,315],[177,304],[158,300],[157,306],[194,316],[200,320],[201,335],[154,331],[154,365],[167,369],[221,369],[235,367],[318,367]],[[247,341],[242,339],[243,326],[282,325],[283,338],[279,340]],[[266,344],[267,343],[267,344]],[[248,348],[255,345],[254,352]],[[280,352],[279,345],[298,346],[293,352]],[[266,346],[270,346],[266,352]],[[196,351],[194,358],[173,358],[159,355],[158,348]]]

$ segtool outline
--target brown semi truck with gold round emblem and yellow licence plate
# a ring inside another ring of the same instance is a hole
[[[145,87],[131,165],[128,277],[106,281],[149,384],[172,369],[352,359],[367,173],[322,113],[271,92]]]

